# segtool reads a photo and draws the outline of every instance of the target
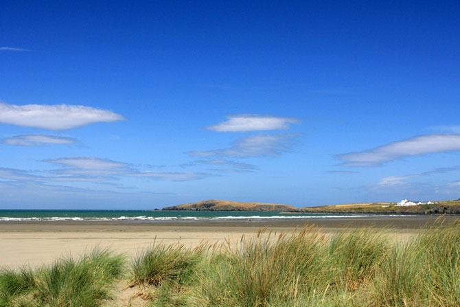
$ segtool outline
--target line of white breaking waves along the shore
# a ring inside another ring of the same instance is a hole
[[[34,222],[34,221],[176,221],[176,220],[298,220],[298,219],[315,219],[315,218],[369,218],[385,216],[407,216],[402,214],[361,214],[361,215],[308,215],[308,216],[119,216],[113,218],[106,217],[79,217],[79,216],[54,216],[54,217],[30,217],[30,218],[13,218],[0,216],[0,222]]]

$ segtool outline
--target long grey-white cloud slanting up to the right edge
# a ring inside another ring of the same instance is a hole
[[[436,133],[419,135],[369,150],[349,152],[335,157],[342,161],[342,166],[380,166],[404,157],[458,150],[460,150],[460,134]]]

